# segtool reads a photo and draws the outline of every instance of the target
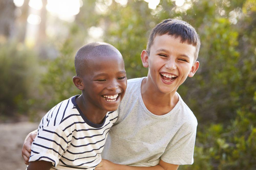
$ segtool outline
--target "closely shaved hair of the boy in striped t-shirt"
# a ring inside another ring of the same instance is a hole
[[[75,56],[75,69],[77,76],[84,73],[88,66],[88,59],[100,56],[121,55],[113,45],[104,42],[93,42],[79,48]]]

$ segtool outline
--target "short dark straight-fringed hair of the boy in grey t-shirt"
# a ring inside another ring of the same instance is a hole
[[[150,54],[150,48],[154,43],[156,36],[164,34],[172,35],[175,38],[180,37],[181,43],[187,43],[196,47],[194,62],[197,60],[200,49],[200,38],[196,30],[187,22],[178,19],[166,19],[153,28],[147,42],[147,53]]]

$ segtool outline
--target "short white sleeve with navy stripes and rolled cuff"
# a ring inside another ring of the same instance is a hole
[[[66,151],[67,137],[58,126],[47,126],[40,129],[31,145],[29,162],[49,161],[57,166],[61,155]]]

